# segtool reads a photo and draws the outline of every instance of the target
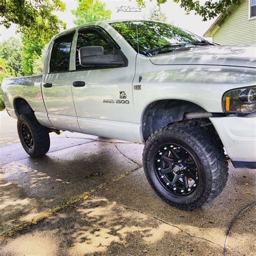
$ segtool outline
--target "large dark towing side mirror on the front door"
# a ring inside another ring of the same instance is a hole
[[[85,46],[78,51],[81,66],[120,66],[123,59],[120,55],[104,55],[102,46]]]

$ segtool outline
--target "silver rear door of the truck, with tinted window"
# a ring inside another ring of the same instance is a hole
[[[80,132],[71,91],[70,51],[75,32],[57,37],[45,59],[42,92],[51,124]]]

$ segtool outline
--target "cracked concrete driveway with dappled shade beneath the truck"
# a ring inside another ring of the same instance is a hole
[[[223,254],[235,216],[255,201],[255,170],[233,169],[221,195],[196,211],[161,201],[146,181],[143,145],[51,134],[32,158],[16,120],[0,112],[1,255]],[[255,255],[255,207],[241,214],[228,254]]]

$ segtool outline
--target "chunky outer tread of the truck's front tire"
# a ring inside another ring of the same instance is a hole
[[[161,136],[161,134],[172,130],[185,134],[187,137],[190,137],[194,142],[198,144],[200,150],[203,151],[203,154],[207,159],[204,165],[207,165],[208,168],[211,170],[212,177],[211,180],[208,180],[208,183],[211,184],[211,187],[206,187],[203,197],[195,201],[195,203],[192,205],[173,204],[171,201],[161,196],[156,188],[154,188],[154,185],[152,184],[149,175],[147,174],[147,151],[149,151],[151,144],[156,141]],[[204,203],[209,203],[210,201],[212,201],[223,191],[228,178],[228,163],[224,154],[224,150],[216,145],[214,140],[204,129],[198,126],[197,123],[191,121],[175,123],[154,132],[147,140],[144,147],[143,165],[146,178],[149,181],[153,190],[158,194],[158,196],[166,203],[182,210],[194,210],[201,207],[201,205],[203,205]]]

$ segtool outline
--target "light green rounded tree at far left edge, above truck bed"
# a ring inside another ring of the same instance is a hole
[[[12,70],[14,76],[23,75],[21,48],[21,42],[14,37],[0,43],[0,58]]]

